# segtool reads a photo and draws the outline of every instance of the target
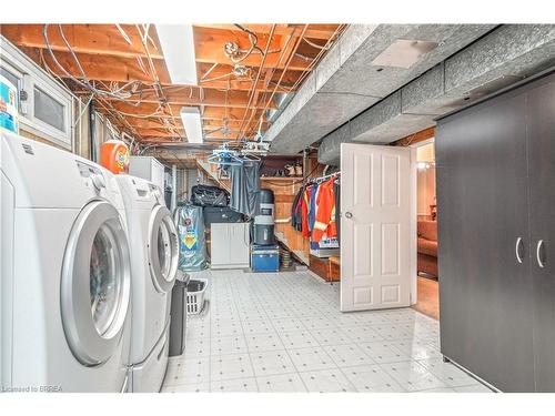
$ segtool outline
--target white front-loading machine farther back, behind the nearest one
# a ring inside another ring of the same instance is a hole
[[[170,302],[179,262],[179,237],[162,190],[118,175],[131,242],[132,325],[130,390],[158,392],[168,366]]]

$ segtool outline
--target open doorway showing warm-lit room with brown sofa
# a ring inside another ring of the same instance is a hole
[[[440,274],[437,270],[437,203],[434,139],[416,148],[417,298],[415,310],[440,318]]]

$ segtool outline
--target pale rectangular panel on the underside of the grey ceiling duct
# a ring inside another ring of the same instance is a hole
[[[396,67],[408,69],[435,48],[437,48],[436,42],[397,39],[382,53],[380,53],[372,61],[372,64],[376,67]]]

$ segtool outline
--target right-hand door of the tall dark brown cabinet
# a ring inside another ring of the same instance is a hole
[[[555,79],[527,92],[536,390],[555,392]]]

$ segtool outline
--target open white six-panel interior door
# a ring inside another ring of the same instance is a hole
[[[341,145],[341,311],[411,304],[415,164],[408,148]]]

